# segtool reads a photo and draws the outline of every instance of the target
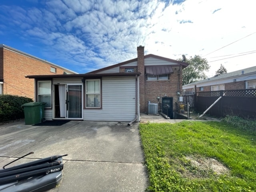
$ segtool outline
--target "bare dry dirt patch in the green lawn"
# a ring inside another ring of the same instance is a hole
[[[218,160],[194,156],[186,156],[186,163],[179,171],[188,178],[206,178],[210,175],[230,174],[230,170]]]

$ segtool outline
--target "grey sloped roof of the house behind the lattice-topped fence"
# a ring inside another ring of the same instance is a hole
[[[215,82],[218,82],[219,84],[221,84],[221,83],[226,83],[225,81],[228,81],[228,80],[230,82],[233,82],[234,79],[236,79],[236,81],[249,80],[246,77],[247,78],[250,77],[250,79],[256,79],[256,66],[221,74],[221,75],[216,75],[210,78],[206,78],[204,80],[186,84],[182,87],[183,89],[185,89],[185,88],[194,87],[194,85],[198,85],[198,84],[200,84],[201,86],[205,86],[206,84],[210,85],[210,84],[214,84]]]

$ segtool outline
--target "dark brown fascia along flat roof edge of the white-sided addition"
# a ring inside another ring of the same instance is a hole
[[[60,75],[28,75],[29,79],[47,79],[47,78],[90,78],[90,77],[110,77],[110,76],[136,76],[141,73],[106,73],[106,74],[60,74]]]

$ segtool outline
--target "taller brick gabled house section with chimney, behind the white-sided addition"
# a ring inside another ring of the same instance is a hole
[[[158,104],[158,110],[168,106],[168,114],[172,118],[182,93],[182,69],[186,66],[186,62],[154,54],[144,55],[144,46],[138,46],[137,58],[88,74],[140,72],[140,112],[148,112],[148,103],[154,103]]]

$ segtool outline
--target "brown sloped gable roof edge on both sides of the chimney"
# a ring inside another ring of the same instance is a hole
[[[182,67],[188,66],[188,63],[186,63],[186,62],[182,62],[182,61],[178,61],[178,60],[174,60],[174,59],[170,59],[170,58],[166,58],[166,57],[162,57],[162,56],[158,56],[158,55],[154,55],[154,54],[145,55],[144,59],[145,58],[150,58],[150,57],[160,59],[160,60],[165,60],[165,61],[168,61],[168,62],[174,62],[174,63],[180,64]],[[134,58],[134,59],[131,59],[131,60],[127,60],[127,61],[118,63],[118,64],[114,64],[114,65],[111,65],[111,66],[100,68],[98,70],[94,70],[94,71],[88,72],[86,74],[98,73],[98,72],[101,72],[101,71],[104,71],[104,70],[108,70],[108,69],[111,69],[111,68],[122,66],[124,64],[128,64],[128,63],[131,63],[131,62],[136,62],[137,60],[138,60],[138,58]]]

